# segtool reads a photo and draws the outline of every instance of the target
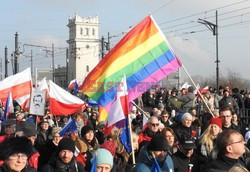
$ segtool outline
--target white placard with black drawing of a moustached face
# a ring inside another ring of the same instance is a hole
[[[44,115],[46,103],[45,93],[45,91],[41,90],[32,90],[30,97],[30,114],[41,116]]]

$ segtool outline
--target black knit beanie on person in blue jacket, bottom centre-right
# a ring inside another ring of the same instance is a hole
[[[155,134],[148,144],[148,150],[151,151],[167,151],[169,149],[170,146],[162,134]]]

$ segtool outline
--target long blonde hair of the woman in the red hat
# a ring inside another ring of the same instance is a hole
[[[212,124],[210,124],[207,129],[204,131],[204,133],[201,135],[200,138],[200,143],[205,145],[206,151],[208,152],[208,154],[211,153],[211,151],[214,148],[214,143],[213,140],[215,139],[215,137],[211,134],[211,126]],[[222,129],[220,128],[220,132],[222,132]]]

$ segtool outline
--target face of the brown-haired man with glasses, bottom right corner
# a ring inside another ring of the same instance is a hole
[[[245,144],[244,144],[244,138],[241,134],[231,134],[229,139],[229,144],[227,149],[231,150],[232,156],[234,158],[239,158],[243,153],[245,153]]]

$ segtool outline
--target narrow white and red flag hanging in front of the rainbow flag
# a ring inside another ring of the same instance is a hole
[[[122,77],[116,93],[116,97],[109,110],[108,126],[125,119],[129,114],[128,89],[125,75]]]

